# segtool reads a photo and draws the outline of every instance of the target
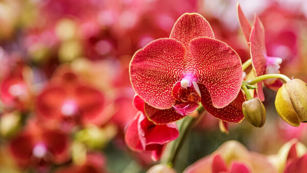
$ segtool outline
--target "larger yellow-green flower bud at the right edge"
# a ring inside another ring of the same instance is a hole
[[[287,123],[299,126],[307,121],[307,85],[300,79],[293,79],[279,88],[275,107],[278,115]]]

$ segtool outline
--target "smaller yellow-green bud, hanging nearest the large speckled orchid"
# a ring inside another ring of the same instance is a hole
[[[244,117],[255,127],[262,127],[266,122],[266,109],[264,104],[258,99],[253,98],[242,104]]]

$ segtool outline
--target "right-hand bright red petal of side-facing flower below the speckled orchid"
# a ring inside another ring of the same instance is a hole
[[[140,114],[138,122],[139,137],[143,146],[150,144],[162,145],[179,137],[179,131],[175,122],[156,125],[143,114]]]

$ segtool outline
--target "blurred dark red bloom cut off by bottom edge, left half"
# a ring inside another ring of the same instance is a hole
[[[104,173],[106,158],[101,153],[86,155],[86,161],[81,165],[71,165],[57,169],[56,173]]]

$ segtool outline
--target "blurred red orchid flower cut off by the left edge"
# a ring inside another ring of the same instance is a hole
[[[25,110],[31,101],[30,68],[17,62],[0,82],[0,99],[7,108]]]

